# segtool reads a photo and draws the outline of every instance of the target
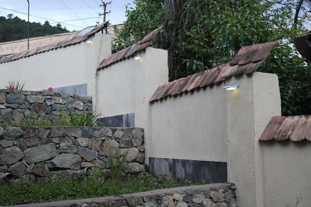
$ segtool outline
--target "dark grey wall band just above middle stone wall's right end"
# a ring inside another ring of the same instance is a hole
[[[105,127],[135,127],[135,113],[108,116],[99,120]]]

